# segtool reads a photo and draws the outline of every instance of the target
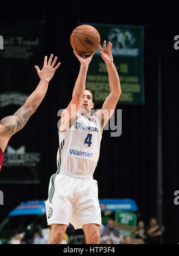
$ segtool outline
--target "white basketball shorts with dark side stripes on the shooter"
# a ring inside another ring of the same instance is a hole
[[[69,171],[51,176],[45,203],[48,225],[71,223],[75,229],[90,223],[101,225],[97,181],[83,176]]]

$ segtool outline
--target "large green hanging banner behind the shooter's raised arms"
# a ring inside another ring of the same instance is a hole
[[[85,23],[87,24],[87,23]],[[144,104],[144,27],[118,24],[91,24],[98,30],[101,47],[106,40],[113,44],[112,54],[121,81],[119,104]],[[109,95],[106,63],[95,51],[87,75],[87,87],[94,102],[103,103]]]

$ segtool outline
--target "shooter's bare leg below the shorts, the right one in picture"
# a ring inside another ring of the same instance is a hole
[[[100,243],[100,225],[98,224],[85,224],[82,226],[86,243],[88,244],[99,244]]]

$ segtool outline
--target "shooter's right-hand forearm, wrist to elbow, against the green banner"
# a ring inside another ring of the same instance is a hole
[[[109,75],[109,87],[110,92],[116,97],[120,97],[121,95],[121,84],[119,80],[119,75],[116,70],[115,64],[112,62],[106,63],[107,73]]]

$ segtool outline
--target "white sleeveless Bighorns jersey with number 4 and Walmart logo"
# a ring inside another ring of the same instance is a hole
[[[93,174],[101,143],[100,121],[77,114],[76,121],[66,131],[58,132],[57,167],[74,174]]]

